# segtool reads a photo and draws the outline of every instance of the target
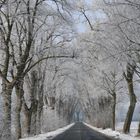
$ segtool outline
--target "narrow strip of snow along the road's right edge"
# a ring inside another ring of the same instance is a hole
[[[139,137],[133,137],[133,136],[130,136],[130,135],[126,135],[126,134],[122,134],[118,131],[113,131],[111,129],[102,129],[102,128],[96,128],[96,127],[93,127],[87,123],[84,123],[86,126],[100,132],[100,133],[103,133],[107,136],[111,136],[111,137],[114,137],[116,139],[120,139],[120,140],[140,140]]]

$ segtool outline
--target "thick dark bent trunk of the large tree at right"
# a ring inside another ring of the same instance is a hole
[[[125,123],[123,126],[123,132],[129,133],[130,132],[130,125],[133,118],[133,113],[135,110],[136,105],[136,96],[134,94],[134,87],[133,87],[133,75],[134,75],[135,66],[128,64],[127,66],[127,76],[125,75],[128,91],[129,91],[129,98],[130,98],[130,105],[126,115]]]

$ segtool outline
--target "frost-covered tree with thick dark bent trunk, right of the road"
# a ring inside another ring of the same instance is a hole
[[[94,8],[100,9],[101,13],[104,13],[104,21],[99,23],[100,27],[98,26],[102,29],[102,35],[105,33],[104,47],[111,54],[110,56],[118,57],[121,65],[126,67],[123,71],[126,71],[124,77],[128,85],[130,107],[123,131],[128,133],[136,105],[133,76],[139,63],[139,2],[101,0],[95,1],[95,3]],[[100,43],[100,45],[103,44]],[[108,46],[113,48],[114,52],[111,52]]]

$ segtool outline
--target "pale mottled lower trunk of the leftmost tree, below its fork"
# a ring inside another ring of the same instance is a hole
[[[3,140],[11,140],[11,95],[13,90],[12,84],[5,84],[2,85],[2,96],[3,96],[3,110],[4,110],[4,118],[3,118],[3,133],[2,139]]]

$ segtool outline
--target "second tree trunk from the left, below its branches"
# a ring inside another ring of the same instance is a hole
[[[15,85],[16,95],[17,95],[17,102],[16,102],[16,109],[15,109],[15,131],[16,131],[16,140],[21,138],[21,120],[20,120],[20,113],[22,109],[22,98],[24,95],[23,90],[23,79]]]

